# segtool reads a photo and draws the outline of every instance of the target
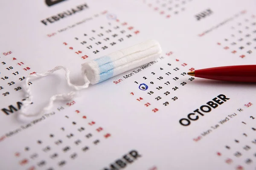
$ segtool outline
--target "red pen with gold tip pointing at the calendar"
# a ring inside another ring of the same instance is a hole
[[[190,76],[231,82],[256,82],[256,65],[233,65],[204,68],[187,73]]]

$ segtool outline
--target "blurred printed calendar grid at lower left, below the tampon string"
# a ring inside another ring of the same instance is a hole
[[[75,101],[68,102],[67,107],[75,104]],[[59,111],[63,109],[62,106],[58,108]],[[54,116],[55,113],[49,114]],[[40,119],[34,120],[34,123]],[[108,133],[104,127],[98,125],[81,110],[75,110],[70,115],[63,115],[61,124],[52,126],[51,132],[44,131],[40,138],[31,138],[32,146],[24,145],[14,153],[20,167],[26,167],[28,170],[58,169],[67,163],[72,163],[72,160],[78,156],[90,154],[93,147],[111,137],[111,133]]]

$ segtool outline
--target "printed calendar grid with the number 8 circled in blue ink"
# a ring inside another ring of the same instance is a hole
[[[172,51],[168,51],[166,57],[160,57],[160,60],[172,57],[172,54]],[[158,62],[161,62],[160,60]],[[167,62],[166,60],[165,62]],[[136,80],[134,81],[134,89],[137,90],[131,91],[130,95],[140,104],[151,109],[153,113],[175,105],[175,101],[179,99],[179,89],[187,87],[195,79],[186,74],[188,71],[194,71],[195,68],[177,58],[168,60],[167,63],[162,62],[159,67],[154,67],[153,70],[148,68],[150,70],[140,74],[143,74],[140,79],[133,79]],[[147,65],[155,63],[151,62]]]

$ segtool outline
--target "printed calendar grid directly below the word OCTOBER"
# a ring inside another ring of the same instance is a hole
[[[230,119],[233,119],[235,116],[244,113],[244,110],[252,107],[252,103],[247,103],[244,105],[244,108],[237,109],[237,113],[233,113],[227,116],[225,119],[221,120],[221,124],[225,124]],[[256,128],[255,128],[255,117],[250,116],[247,113],[242,115],[242,122],[240,122],[239,128],[246,127],[243,132],[239,135],[237,134],[234,137],[233,141],[227,142],[222,146],[222,151],[218,151],[215,154],[219,156],[221,159],[224,159],[226,164],[230,164],[230,166],[234,166],[236,170],[244,170],[250,167],[253,162],[256,161],[256,152],[255,152],[255,144],[256,144]],[[244,156],[246,155],[246,156]],[[238,164],[241,162],[241,164]]]

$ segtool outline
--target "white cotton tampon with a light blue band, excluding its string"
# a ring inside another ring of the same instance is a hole
[[[143,43],[113,52],[81,65],[82,74],[90,84],[96,84],[137,68],[160,57],[162,50],[159,42],[148,40]]]

